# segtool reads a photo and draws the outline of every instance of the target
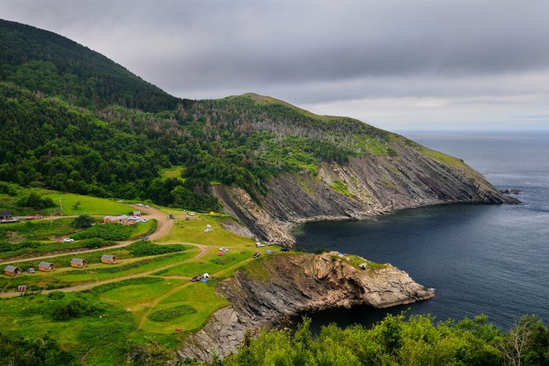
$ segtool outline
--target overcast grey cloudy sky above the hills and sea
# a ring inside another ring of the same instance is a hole
[[[549,130],[549,1],[0,1],[181,98],[388,130]]]

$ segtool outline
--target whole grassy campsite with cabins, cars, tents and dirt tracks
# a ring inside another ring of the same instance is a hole
[[[226,306],[226,299],[215,293],[218,281],[255,260],[255,252],[266,253],[267,247],[256,248],[253,238],[224,229],[232,221],[226,214],[190,216],[183,209],[36,192],[61,198],[64,207],[77,199],[81,205],[70,214],[0,226],[0,241],[8,249],[0,253],[0,266],[11,271],[0,276],[0,325],[15,321],[22,336],[60,334],[62,347],[86,347],[86,360],[92,364],[121,362],[125,339],[142,343],[154,335],[176,345]],[[21,194],[27,193],[21,188]],[[75,229],[71,223],[77,214],[88,210],[94,225]],[[124,215],[140,222],[124,225],[104,219]],[[95,245],[97,235],[110,239]],[[141,240],[143,236],[149,240]],[[280,254],[269,248],[271,255]],[[200,278],[194,282],[194,277]],[[93,309],[60,321],[49,309],[67,301],[93,304]],[[112,323],[117,325],[110,329]]]

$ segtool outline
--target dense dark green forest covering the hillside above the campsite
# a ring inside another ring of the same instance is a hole
[[[255,94],[178,99],[65,37],[9,21],[0,31],[3,181],[207,210],[218,203],[205,182],[257,198],[280,172],[395,154],[399,137],[355,119]],[[180,179],[165,181],[173,165]]]

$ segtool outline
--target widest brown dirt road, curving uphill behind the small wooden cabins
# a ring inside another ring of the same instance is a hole
[[[159,209],[155,209],[153,207],[139,207],[137,205],[130,205],[134,207],[135,209],[139,209],[140,211],[145,212],[148,214],[148,219],[156,219],[158,222],[158,226],[156,227],[156,231],[154,233],[150,234],[149,240],[156,240],[159,238],[162,238],[163,236],[166,236],[167,233],[172,230],[172,227],[174,227],[174,220],[166,220],[167,215],[164,214]],[[60,218],[67,218],[67,217],[75,217],[75,216],[56,216]],[[0,266],[2,264],[12,264],[12,263],[21,263],[21,262],[30,262],[30,261],[40,261],[45,260],[47,258],[56,258],[56,257],[62,257],[63,255],[77,255],[82,253],[93,253],[94,251],[108,251],[110,249],[117,249],[117,248],[124,248],[128,247],[128,245],[132,244],[132,242],[135,242],[135,240],[127,240],[124,242],[119,242],[116,245],[111,245],[110,247],[102,247],[97,249],[86,249],[83,251],[69,251],[69,252],[60,252],[56,254],[48,254],[48,255],[40,255],[40,257],[32,257],[32,258],[22,258],[19,260],[7,260],[5,262],[0,262]],[[194,245],[194,243],[183,243],[183,244],[191,244]]]

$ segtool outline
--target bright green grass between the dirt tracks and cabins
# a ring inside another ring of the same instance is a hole
[[[69,207],[66,214],[126,214],[131,210],[126,204],[103,198],[41,192],[51,195],[52,199],[61,196],[63,206]],[[80,201],[80,206],[72,210],[71,202],[76,200]],[[22,284],[30,290],[84,286],[76,288],[77,292],[66,293],[65,297],[56,295],[60,299],[50,295],[0,299],[0,327],[16,328],[18,336],[23,337],[49,335],[63,350],[78,355],[86,365],[123,364],[128,344],[143,344],[151,336],[163,344],[176,347],[185,339],[185,334],[199,330],[213,312],[228,305],[226,299],[216,293],[218,281],[247,266],[253,268],[254,273],[259,273],[257,266],[261,268],[266,251],[276,252],[273,255],[278,253],[277,247],[257,249],[254,240],[224,229],[222,224],[231,220],[229,217],[196,214],[187,221],[183,211],[162,210],[166,214],[172,212],[176,215],[176,222],[170,233],[157,240],[159,244],[156,245],[184,244],[184,251],[148,255],[145,253],[150,253],[150,249],[135,251],[133,246],[73,253],[68,251],[82,250],[78,241],[47,241],[75,233],[76,230],[70,226],[72,218],[0,226],[0,240],[9,240],[14,245],[21,240],[42,242],[37,248],[0,253],[0,258],[23,254],[37,257],[40,253],[60,254],[45,259],[56,265],[53,272],[23,273],[16,277],[0,275],[0,292],[14,291]],[[207,225],[211,226],[211,232],[204,231]],[[130,238],[141,238],[153,228],[156,228],[154,220],[139,223],[132,227]],[[220,247],[227,247],[229,251],[219,256]],[[145,256],[132,255],[132,248],[136,255],[140,253]],[[253,259],[256,251],[263,256]],[[120,262],[101,263],[103,253],[117,255]],[[89,265],[73,268],[70,266],[71,258],[83,258]],[[27,260],[18,262],[17,266],[23,270],[30,267],[37,269],[38,262],[40,260]],[[211,275],[209,282],[191,282],[191,277],[203,273]],[[49,307],[54,306],[56,301],[65,301],[63,299],[81,300],[99,310],[93,314],[81,314],[75,319],[56,321]]]

